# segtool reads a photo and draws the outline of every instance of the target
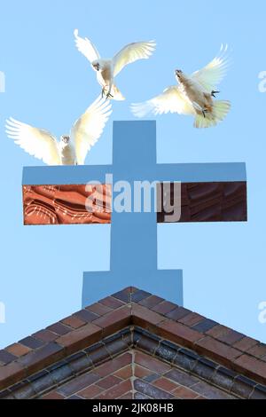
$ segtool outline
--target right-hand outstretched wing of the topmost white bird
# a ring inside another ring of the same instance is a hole
[[[155,41],[129,43],[113,58],[113,75],[121,72],[123,67],[137,61],[137,59],[148,59],[156,47]]]

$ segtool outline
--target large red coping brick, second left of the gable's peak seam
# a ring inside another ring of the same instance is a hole
[[[64,334],[57,339],[57,343],[66,348],[66,353],[70,355],[77,350],[88,348],[91,344],[98,342],[101,339],[102,329],[92,323],[82,326]]]

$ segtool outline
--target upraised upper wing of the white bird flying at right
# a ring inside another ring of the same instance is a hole
[[[220,54],[207,64],[206,67],[193,73],[192,79],[200,83],[209,92],[215,90],[216,86],[221,83],[223,77],[226,75],[230,64],[227,51],[227,45],[224,48],[222,45]]]

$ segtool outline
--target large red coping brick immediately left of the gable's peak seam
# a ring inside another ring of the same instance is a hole
[[[122,327],[129,326],[131,321],[131,311],[129,305],[121,309],[111,311],[105,316],[93,321],[93,324],[103,329],[103,336],[113,334]]]

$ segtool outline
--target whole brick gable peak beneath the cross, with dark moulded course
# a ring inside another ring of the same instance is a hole
[[[265,344],[128,287],[0,350],[0,397],[266,398],[265,358]]]

